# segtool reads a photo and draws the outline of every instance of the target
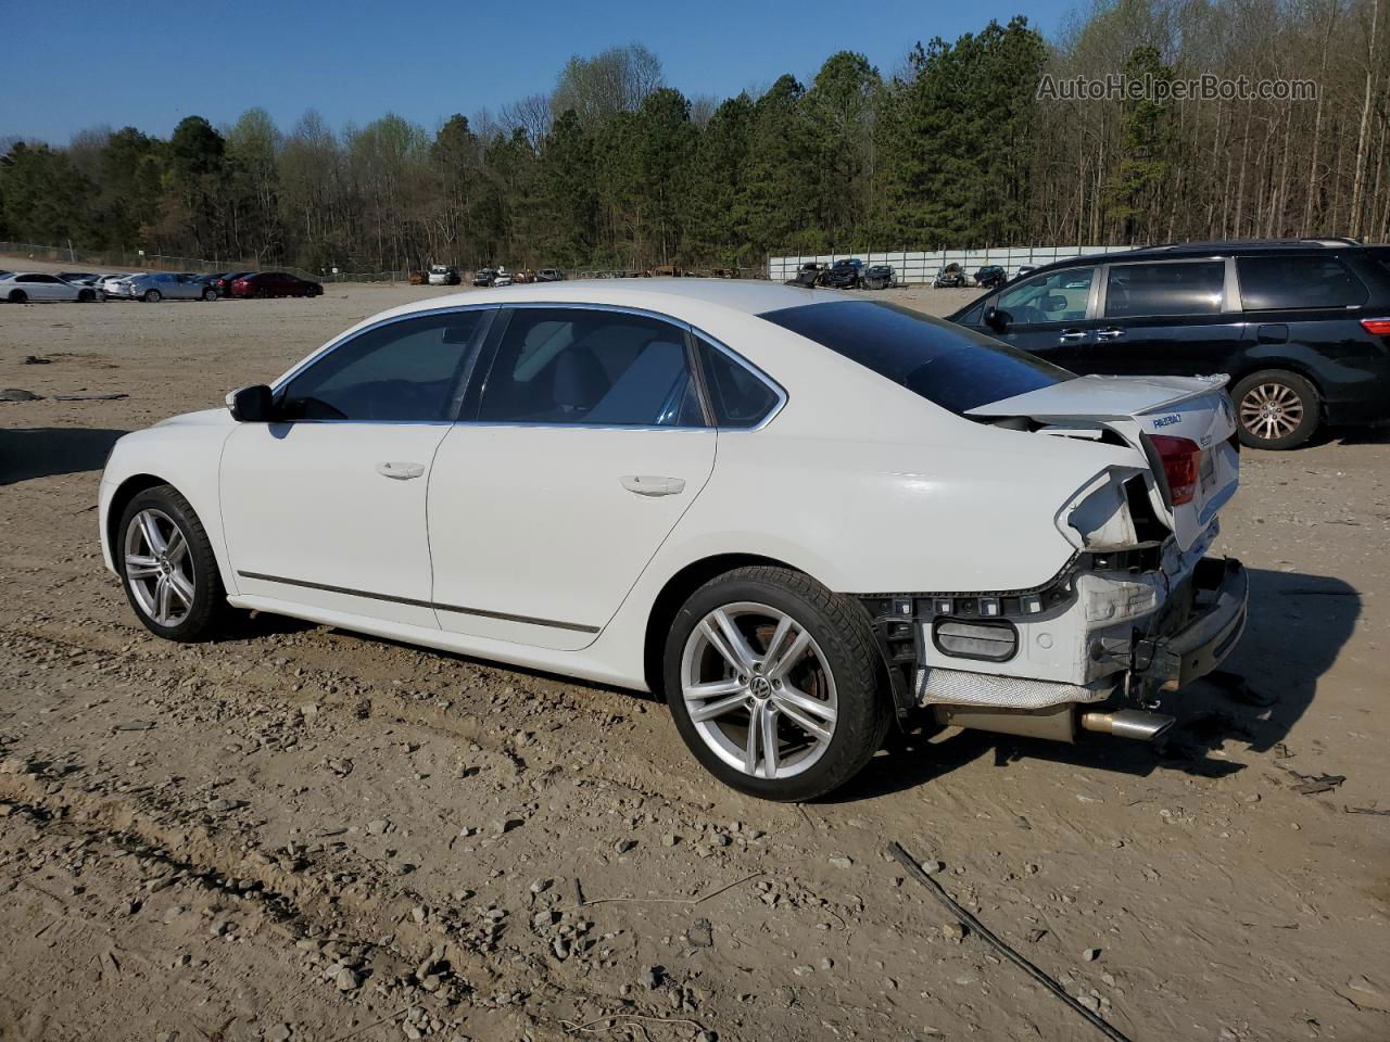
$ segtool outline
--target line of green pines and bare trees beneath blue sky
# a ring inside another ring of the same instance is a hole
[[[431,263],[760,267],[769,253],[1390,238],[1382,0],[1099,0],[884,74],[689,99],[642,46],[434,131],[388,114],[278,128],[261,108],[165,140],[0,142],[0,239],[317,271]],[[1312,81],[1309,97],[1068,99],[1077,76]]]

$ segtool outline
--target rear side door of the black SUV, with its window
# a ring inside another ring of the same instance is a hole
[[[1245,338],[1232,263],[1215,258],[1106,264],[1094,342],[1076,372],[1194,377],[1230,371]]]

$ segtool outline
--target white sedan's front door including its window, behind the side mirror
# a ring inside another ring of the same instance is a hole
[[[275,421],[222,450],[228,556],[242,593],[436,628],[425,496],[492,308],[363,329],[275,389]]]

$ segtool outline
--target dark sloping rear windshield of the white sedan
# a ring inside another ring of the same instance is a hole
[[[941,318],[878,300],[837,300],[760,315],[960,415],[1074,374]]]

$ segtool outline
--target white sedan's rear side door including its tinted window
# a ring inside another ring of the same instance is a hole
[[[685,329],[621,310],[516,306],[489,339],[477,400],[430,479],[439,625],[585,647],[714,464]]]

